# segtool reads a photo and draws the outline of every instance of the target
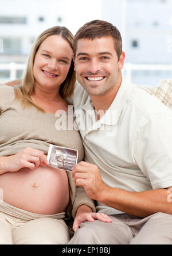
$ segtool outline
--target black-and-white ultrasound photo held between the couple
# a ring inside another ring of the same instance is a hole
[[[65,148],[50,144],[48,151],[48,164],[57,169],[71,171],[77,163],[77,150]]]

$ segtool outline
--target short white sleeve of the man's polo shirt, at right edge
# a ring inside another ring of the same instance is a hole
[[[172,186],[172,114],[153,114],[136,135],[134,158],[153,189]]]

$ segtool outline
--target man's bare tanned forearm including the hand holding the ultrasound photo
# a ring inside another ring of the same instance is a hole
[[[75,184],[83,186],[89,197],[112,208],[139,217],[156,212],[172,215],[172,200],[169,200],[172,186],[169,190],[155,189],[144,192],[111,188],[102,181],[98,167],[87,162],[80,162],[73,167],[72,175]]]

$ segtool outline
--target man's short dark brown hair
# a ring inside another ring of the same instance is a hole
[[[115,51],[118,55],[118,60],[122,54],[122,37],[116,26],[107,21],[93,20],[87,22],[76,32],[73,42],[73,53],[76,56],[77,42],[79,39],[96,39],[105,36],[112,36],[115,43]]]

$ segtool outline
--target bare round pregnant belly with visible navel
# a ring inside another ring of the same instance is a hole
[[[3,201],[29,212],[65,212],[69,203],[68,176],[64,170],[39,166],[0,175]]]

